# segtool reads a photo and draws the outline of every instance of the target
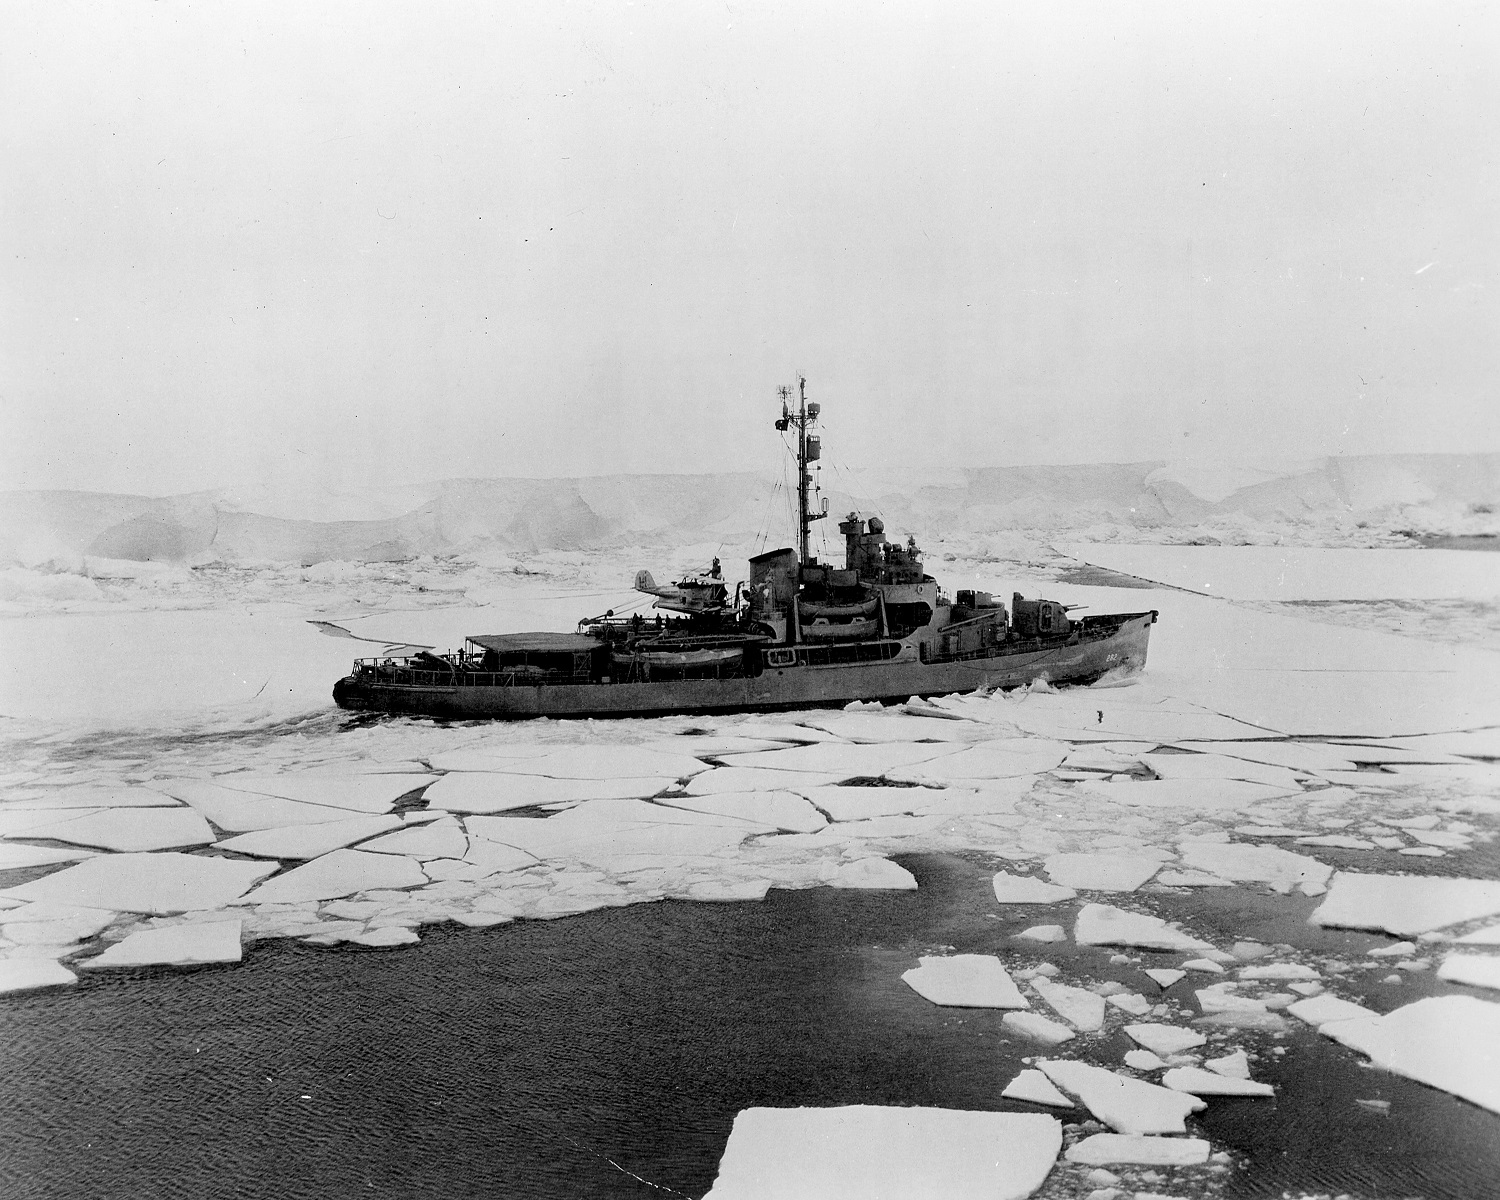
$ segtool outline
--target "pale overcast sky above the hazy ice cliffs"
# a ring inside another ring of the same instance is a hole
[[[0,486],[1500,450],[1500,22],[12,3]]]

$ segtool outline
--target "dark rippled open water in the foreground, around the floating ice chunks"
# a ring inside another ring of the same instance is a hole
[[[999,1092],[1034,1048],[1000,1035],[1000,1014],[928,1005],[900,974],[942,945],[1012,952],[1006,934],[1048,910],[996,920],[994,867],[978,858],[903,862],[921,891],[440,927],[388,952],[266,942],[237,968],[0,1000],[0,1191],[698,1197],[744,1107],[1024,1110]],[[1380,940],[1302,924],[1312,902],[1240,890],[1154,903],[1221,939]],[[1065,978],[1070,964],[1134,976],[1107,952],[1040,950]],[[1257,1065],[1275,1101],[1206,1113],[1215,1146],[1251,1155],[1228,1194],[1500,1194],[1500,1119],[1310,1032],[1287,1044]],[[1390,1116],[1354,1096],[1390,1100]]]

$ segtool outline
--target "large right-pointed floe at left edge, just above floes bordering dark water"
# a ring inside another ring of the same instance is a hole
[[[238,862],[172,850],[110,854],[3,894],[116,912],[192,912],[232,903],[274,870],[274,862]]]

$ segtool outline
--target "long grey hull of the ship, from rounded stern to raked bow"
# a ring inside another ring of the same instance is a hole
[[[1035,680],[1088,682],[1107,670],[1146,664],[1150,612],[1120,618],[1102,638],[1017,650],[993,657],[921,663],[768,666],[730,680],[660,682],[442,686],[339,680],[340,708],[450,720],[524,720],[530,717],[650,717],[682,712],[744,712],[818,708],[850,700],[904,700],[980,688],[1024,687]]]

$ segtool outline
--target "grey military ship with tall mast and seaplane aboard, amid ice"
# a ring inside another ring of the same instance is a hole
[[[950,597],[916,542],[886,540],[879,516],[849,513],[838,522],[843,566],[819,561],[810,534],[828,516],[813,484],[820,405],[802,378],[795,402],[789,387],[780,398],[776,428],[795,436],[795,548],[750,558],[734,588],[717,558],[670,585],[639,572],[651,615],[610,610],[573,633],[482,633],[447,654],[405,646],[357,658],[334,702],[452,720],[648,717],[898,704],[1144,669],[1155,609],[1076,616],[1020,592],[1010,608],[976,590]]]

